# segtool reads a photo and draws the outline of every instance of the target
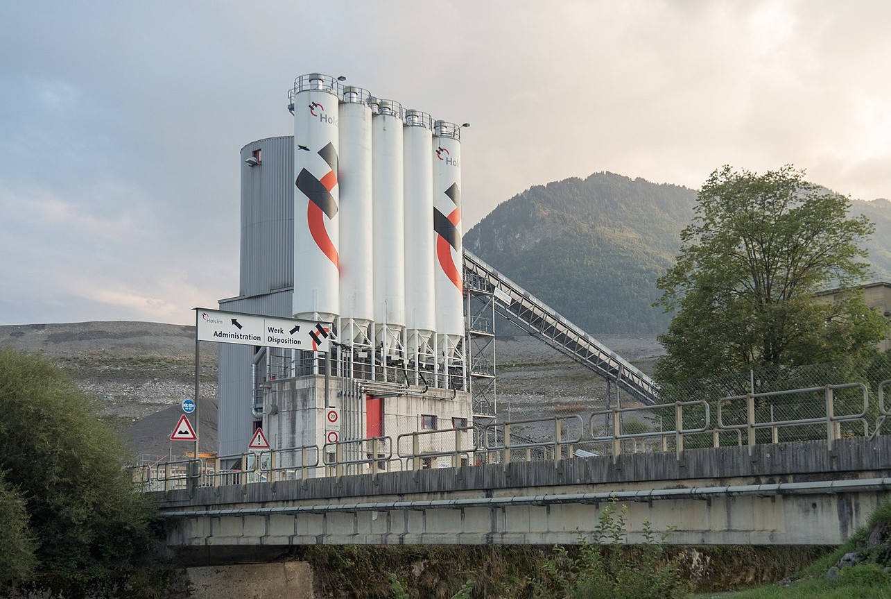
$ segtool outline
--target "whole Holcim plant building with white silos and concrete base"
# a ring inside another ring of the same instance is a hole
[[[408,467],[403,442],[452,465],[473,424],[462,126],[318,73],[288,109],[293,137],[241,149],[239,291],[219,308],[310,321],[329,351],[220,344],[219,455],[261,428],[307,476]]]

